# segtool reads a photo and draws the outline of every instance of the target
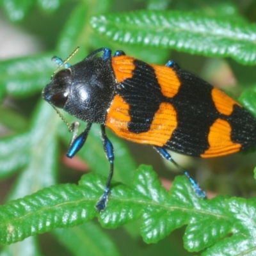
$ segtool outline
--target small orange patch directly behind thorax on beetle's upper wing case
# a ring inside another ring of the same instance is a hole
[[[112,67],[118,83],[122,83],[125,79],[132,77],[132,71],[135,68],[133,61],[134,58],[125,55],[112,58]]]

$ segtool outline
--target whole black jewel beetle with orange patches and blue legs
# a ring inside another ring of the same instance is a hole
[[[256,144],[256,119],[241,104],[182,70],[174,61],[165,66],[152,65],[123,51],[111,56],[111,50],[105,47],[76,65],[53,59],[63,69],[55,72],[45,86],[43,98],[54,108],[87,122],[79,136],[73,125],[67,157],[83,147],[91,125],[100,124],[110,172],[96,205],[98,211],[106,207],[114,168],[113,145],[106,136],[106,127],[125,140],[152,145],[184,172],[196,195],[203,198],[204,191],[166,150],[217,157]]]

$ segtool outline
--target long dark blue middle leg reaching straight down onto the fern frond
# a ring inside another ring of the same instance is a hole
[[[113,170],[114,170],[114,149],[111,141],[106,136],[105,126],[100,125],[101,128],[101,138],[102,138],[102,144],[104,147],[104,151],[106,153],[106,157],[108,158],[109,164],[110,164],[110,172],[108,176],[108,180],[106,182],[106,187],[104,194],[100,197],[99,202],[96,204],[96,208],[98,211],[103,211],[106,208],[107,202],[108,202],[108,196],[110,192],[110,182],[113,177]]]

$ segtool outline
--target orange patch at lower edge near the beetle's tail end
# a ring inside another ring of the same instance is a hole
[[[210,148],[205,150],[201,157],[225,156],[239,151],[241,145],[232,142],[230,134],[230,124],[228,124],[227,121],[218,118],[214,124],[212,124],[208,135]]]

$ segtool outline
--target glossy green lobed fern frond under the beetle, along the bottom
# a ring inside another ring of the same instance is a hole
[[[82,177],[79,185],[52,186],[1,206],[0,242],[15,243],[56,227],[73,227],[97,216],[106,228],[141,219],[141,236],[146,243],[157,243],[176,228],[188,225],[184,244],[191,252],[212,244],[203,255],[255,252],[254,198],[217,196],[202,200],[186,177],[177,177],[168,193],[150,166],[140,166],[131,186],[113,186],[108,208],[99,213],[95,204],[104,183],[104,178],[90,173]],[[93,228],[88,232],[97,236],[95,229],[96,234]],[[234,248],[234,243],[241,245]]]

